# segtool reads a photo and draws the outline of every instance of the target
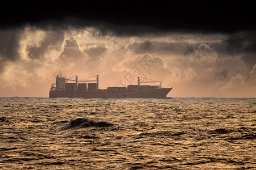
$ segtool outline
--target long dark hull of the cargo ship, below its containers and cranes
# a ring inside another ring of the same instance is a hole
[[[81,97],[85,99],[90,98],[156,98],[166,99],[166,95],[172,90],[172,88],[159,88],[154,90],[142,90],[142,91],[112,91],[112,90],[99,90],[99,91],[84,91],[84,92],[70,92],[70,91],[49,91],[50,98],[57,97]]]

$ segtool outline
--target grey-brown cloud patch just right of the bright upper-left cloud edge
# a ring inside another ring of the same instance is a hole
[[[49,49],[60,50],[64,41],[64,32],[62,31],[47,31],[46,36],[39,46],[28,46],[28,57],[32,59],[42,58]]]

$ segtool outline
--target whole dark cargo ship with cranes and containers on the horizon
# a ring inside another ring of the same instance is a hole
[[[127,87],[108,87],[107,89],[99,89],[99,76],[95,76],[96,80],[78,80],[67,79],[61,73],[56,76],[56,82],[52,84],[49,91],[50,98],[56,97],[81,97],[81,98],[157,98],[166,99],[166,95],[172,88],[162,88],[161,81],[142,82],[138,76],[137,85],[128,85]],[[68,83],[73,81],[74,83]],[[86,82],[86,83],[85,83]],[[94,82],[94,83],[89,83]],[[141,83],[156,83],[159,86],[141,85]]]

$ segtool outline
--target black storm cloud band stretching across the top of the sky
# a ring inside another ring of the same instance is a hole
[[[255,29],[253,3],[233,1],[4,1],[0,19],[2,27],[20,27],[51,20],[60,24],[66,18],[87,22],[70,22],[72,27],[99,27],[101,23],[122,27],[101,27],[102,33],[117,35],[147,32],[148,27],[161,31],[237,32]],[[89,24],[88,24],[89,23]],[[104,24],[105,25],[105,24]],[[131,25],[130,29],[129,25]],[[138,25],[144,25],[138,27]],[[105,29],[106,28],[106,29]],[[127,29],[128,28],[128,29]],[[139,29],[137,29],[139,28]],[[165,29],[165,30],[164,30]]]

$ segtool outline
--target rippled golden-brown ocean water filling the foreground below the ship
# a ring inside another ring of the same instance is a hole
[[[255,138],[255,98],[0,98],[0,169],[256,169]]]

